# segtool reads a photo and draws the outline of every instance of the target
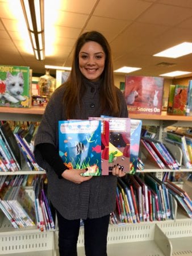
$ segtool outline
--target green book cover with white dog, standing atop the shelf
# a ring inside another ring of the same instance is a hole
[[[30,68],[0,65],[0,106],[31,107]]]

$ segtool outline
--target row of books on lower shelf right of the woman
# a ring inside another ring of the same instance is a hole
[[[175,206],[180,205],[192,218],[189,195],[171,181],[163,182],[153,174],[127,175],[118,178],[116,209],[111,213],[111,224],[174,220]]]

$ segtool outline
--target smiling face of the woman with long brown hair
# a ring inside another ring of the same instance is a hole
[[[105,52],[100,44],[90,41],[84,44],[78,55],[79,68],[91,81],[98,81],[105,68]]]

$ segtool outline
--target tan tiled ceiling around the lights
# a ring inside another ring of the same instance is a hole
[[[22,47],[19,34],[25,31],[16,28],[17,17],[9,11],[15,1],[0,0],[0,64],[27,65],[33,73],[41,74],[45,73],[45,64],[70,67],[78,36],[97,30],[110,43],[114,69],[139,67],[129,75],[145,76],[176,70],[192,72],[192,54],[177,59],[153,56],[179,43],[192,42],[192,0],[62,0],[57,7],[59,18],[45,27],[45,36],[53,28],[56,34],[45,38],[43,61]],[[44,0],[45,5],[55,1]],[[48,15],[52,16],[51,10]],[[51,39],[55,52],[48,55],[46,45]]]

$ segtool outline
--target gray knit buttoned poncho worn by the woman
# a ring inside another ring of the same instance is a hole
[[[100,117],[99,101],[100,82],[84,81],[86,91],[82,98],[81,111],[76,108],[76,119]],[[61,85],[53,94],[45,109],[35,138],[35,146],[40,143],[52,143],[58,148],[58,121],[64,120],[62,114],[62,96],[65,86]],[[128,117],[127,105],[120,90],[121,113],[119,117]],[[72,106],[73,108],[74,106]],[[98,176],[81,184],[75,184],[65,179],[59,179],[55,171],[45,162],[40,152],[35,148],[35,158],[39,166],[47,172],[48,197],[60,214],[68,219],[98,218],[109,214],[115,209],[116,176]]]

